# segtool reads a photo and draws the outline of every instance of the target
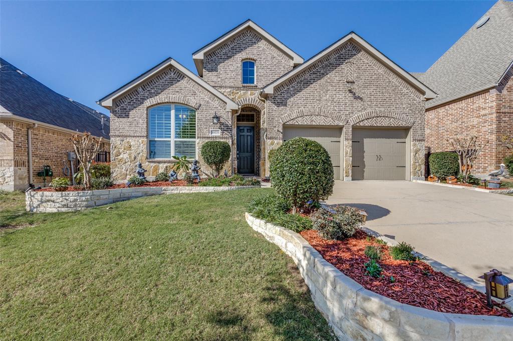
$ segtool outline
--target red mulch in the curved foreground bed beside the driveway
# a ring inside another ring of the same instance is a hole
[[[322,239],[315,230],[302,231],[301,236],[344,274],[364,288],[392,300],[445,313],[513,316],[498,304],[494,309],[488,308],[483,293],[434,271],[422,261],[393,260],[386,245],[378,244],[372,238],[367,240],[368,235],[363,231],[345,241]],[[382,259],[378,263],[383,268],[383,278],[365,274],[364,263],[369,261],[364,254],[367,245],[381,247]],[[390,276],[394,283],[390,282]]]

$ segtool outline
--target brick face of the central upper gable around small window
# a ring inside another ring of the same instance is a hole
[[[240,89],[242,61],[255,61],[254,88],[263,88],[292,69],[293,62],[251,29],[241,32],[204,58],[203,79],[214,87]]]

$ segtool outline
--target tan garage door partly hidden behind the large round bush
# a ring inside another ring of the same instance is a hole
[[[326,148],[331,157],[335,180],[340,180],[341,135],[341,128],[285,127],[283,130],[284,141],[294,137],[304,137],[309,140],[317,141]]]

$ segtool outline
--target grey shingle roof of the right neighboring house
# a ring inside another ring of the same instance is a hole
[[[491,88],[511,65],[513,2],[499,0],[483,17],[486,24],[472,25],[426,72],[412,73],[439,95],[427,108]]]

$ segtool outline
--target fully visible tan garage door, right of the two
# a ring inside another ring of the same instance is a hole
[[[353,129],[353,180],[406,180],[406,130]]]

